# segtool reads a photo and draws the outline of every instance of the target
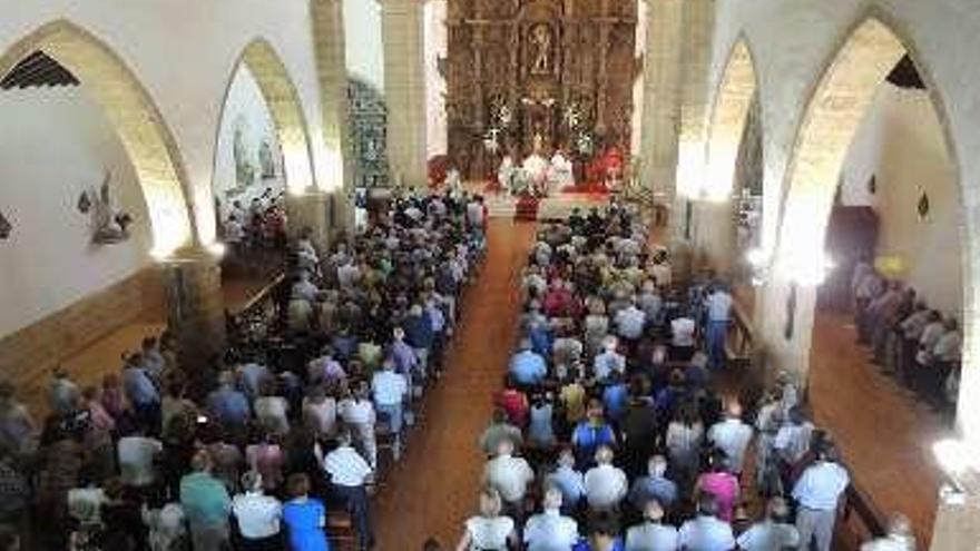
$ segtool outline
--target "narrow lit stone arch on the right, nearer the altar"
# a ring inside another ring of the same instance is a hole
[[[755,58],[744,36],[735,42],[727,59],[709,118],[708,173],[703,188],[708,200],[725,199],[733,190],[738,150],[759,88]]]

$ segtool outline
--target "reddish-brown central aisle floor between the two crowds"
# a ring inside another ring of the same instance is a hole
[[[429,537],[452,549],[477,509],[483,463],[477,440],[517,336],[519,276],[533,235],[533,224],[490,222],[490,249],[465,294],[448,371],[425,396],[421,429],[374,500],[379,551],[414,551]]]

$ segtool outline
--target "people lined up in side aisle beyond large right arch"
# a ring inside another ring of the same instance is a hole
[[[861,260],[851,278],[859,344],[923,403],[952,415],[959,396],[963,338],[953,314],[929,307],[915,289]]]

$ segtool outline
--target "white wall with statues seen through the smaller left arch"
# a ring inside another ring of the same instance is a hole
[[[249,152],[252,165],[256,167],[257,175],[255,185],[241,193],[233,191],[233,196],[229,197],[228,191],[238,187],[235,167],[235,130],[239,125],[245,130],[243,141]],[[275,159],[276,177],[272,179],[261,178],[262,164],[258,150],[263,140],[272,146]],[[222,126],[218,130],[214,183],[215,195],[222,204],[222,219],[227,217],[232,200],[241,200],[242,205],[247,206],[253,197],[262,195],[266,188],[272,188],[274,195],[278,195],[285,188],[282,149],[276,136],[275,124],[268,111],[268,106],[262,97],[258,82],[244,65],[235,73],[232,87],[228,89]]]

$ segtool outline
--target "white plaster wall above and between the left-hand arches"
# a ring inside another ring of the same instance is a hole
[[[373,2],[372,2],[373,3]],[[204,242],[214,236],[212,179],[225,90],[238,58],[264,38],[282,58],[303,105],[317,184],[329,180],[310,2],[303,0],[0,0],[0,50],[38,27],[67,19],[104,41],[134,71],[169,127],[192,189]],[[356,35],[349,39],[356,43]]]

